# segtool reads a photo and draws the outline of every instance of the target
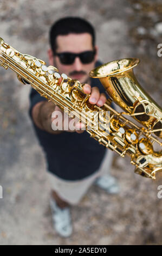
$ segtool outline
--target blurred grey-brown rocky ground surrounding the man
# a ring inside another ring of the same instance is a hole
[[[161,103],[162,4],[159,0],[1,0],[0,36],[23,53],[47,60],[49,26],[64,16],[85,17],[96,28],[100,59],[139,57],[135,74]],[[129,159],[114,157],[111,173],[121,191],[109,195],[92,186],[72,208],[74,233],[53,230],[46,163],[28,116],[30,86],[0,68],[0,243],[1,245],[160,245],[162,199],[157,180],[134,174]]]

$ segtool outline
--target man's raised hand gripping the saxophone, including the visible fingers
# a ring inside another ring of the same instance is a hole
[[[106,95],[99,92],[98,87],[91,87],[89,84],[85,84],[83,86],[83,92],[86,94],[91,94],[89,97],[89,102],[91,104],[96,104],[99,107],[103,106],[106,102]],[[74,129],[69,129],[69,123],[72,121],[72,118],[66,118],[64,120],[63,111],[57,107],[54,103],[48,101],[38,102],[33,108],[33,120],[34,123],[42,130],[47,132],[57,134],[62,131],[82,133],[84,130],[83,124],[81,122],[76,123]],[[57,118],[58,123],[61,123],[61,131],[54,127],[55,119]],[[60,119],[61,120],[60,120]],[[64,124],[68,122],[67,124]],[[52,128],[53,127],[53,128]],[[68,127],[68,129],[64,129],[64,127]]]

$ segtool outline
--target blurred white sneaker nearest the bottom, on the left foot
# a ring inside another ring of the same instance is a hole
[[[70,209],[61,209],[54,199],[50,199],[50,208],[54,223],[54,229],[60,236],[68,237],[72,234],[72,220],[70,216]]]

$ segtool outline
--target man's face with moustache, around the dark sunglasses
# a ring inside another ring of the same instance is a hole
[[[94,50],[92,36],[89,33],[59,35],[56,38],[56,42],[56,53],[81,53]],[[50,65],[56,66],[56,68],[59,69],[60,74],[64,73],[72,79],[77,79],[81,83],[86,83],[89,79],[88,73],[90,70],[94,69],[98,57],[96,47],[95,50],[96,54],[91,63],[83,64],[77,56],[72,64],[65,65],[60,62],[59,56],[53,56],[53,52],[50,49],[48,50],[49,63]]]

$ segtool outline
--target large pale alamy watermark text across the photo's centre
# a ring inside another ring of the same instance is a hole
[[[69,114],[67,114],[67,112]],[[51,128],[56,131],[75,131],[75,130],[100,130],[109,133],[110,112],[109,111],[54,111],[51,114],[53,119]],[[81,121],[82,120],[82,121]],[[80,125],[77,125],[79,124]]]

